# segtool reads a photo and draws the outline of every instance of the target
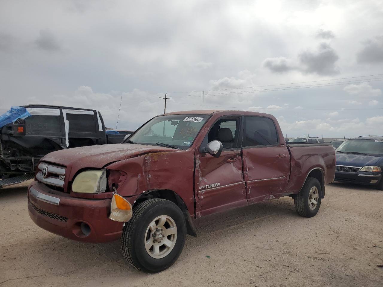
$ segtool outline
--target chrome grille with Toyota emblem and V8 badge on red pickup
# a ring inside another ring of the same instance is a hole
[[[36,174],[38,181],[54,190],[64,191],[65,167],[41,162],[39,163],[38,169],[39,171]]]

